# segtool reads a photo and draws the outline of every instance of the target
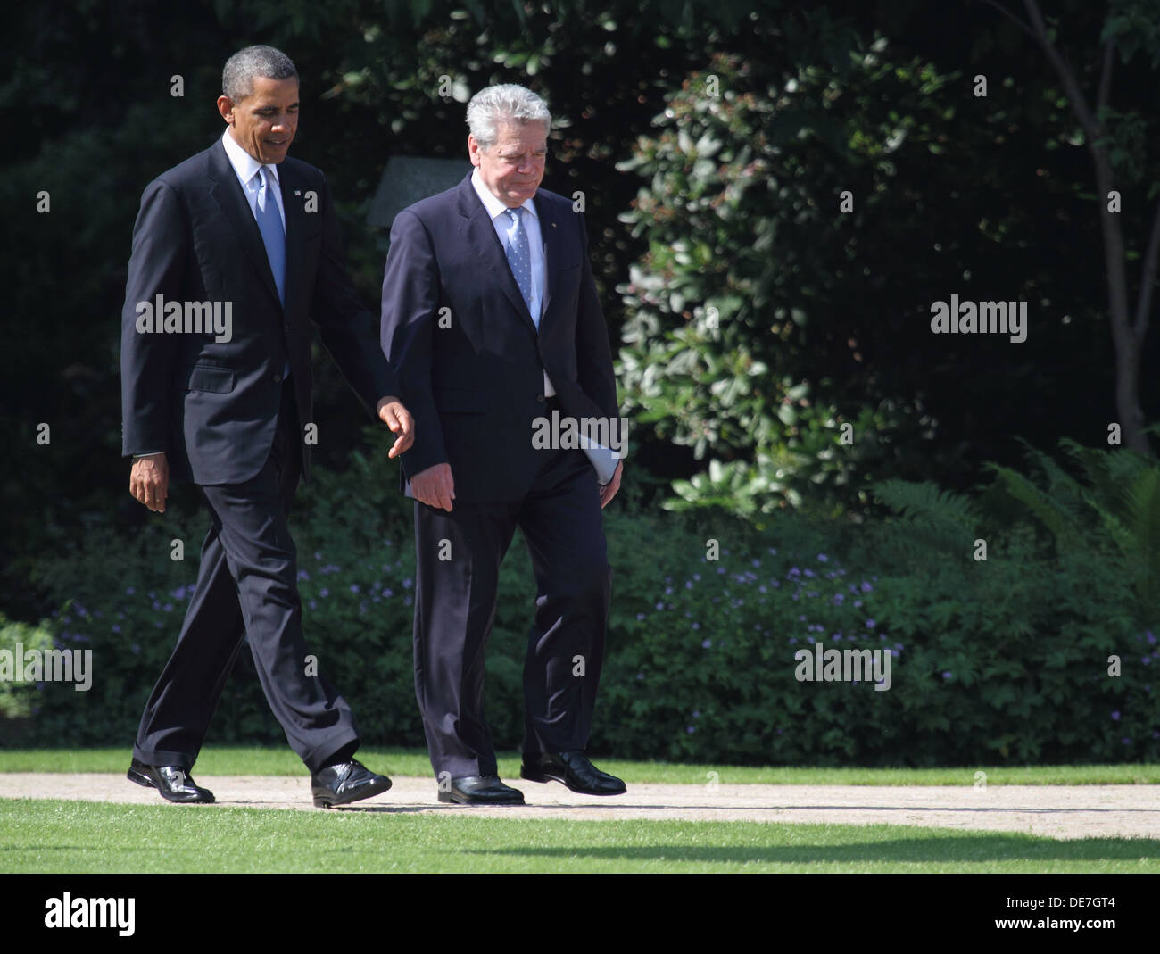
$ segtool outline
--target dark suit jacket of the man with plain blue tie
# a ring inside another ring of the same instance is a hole
[[[166,451],[171,475],[237,484],[269,456],[290,360],[298,420],[313,419],[310,326],[374,412],[398,386],[346,274],[326,179],[287,158],[278,165],[285,209],[285,308],[253,212],[220,140],[150,182],[133,227],[121,335],[125,455]],[[317,211],[307,211],[313,193]],[[137,305],[232,303],[232,340],[212,334],[139,333]],[[299,432],[300,433],[300,432]],[[310,446],[299,441],[303,474]]]

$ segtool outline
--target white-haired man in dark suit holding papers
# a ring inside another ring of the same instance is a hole
[[[551,116],[520,86],[467,106],[476,167],[400,212],[383,281],[383,350],[415,415],[403,461],[415,498],[415,691],[438,798],[520,804],[496,775],[484,649],[499,565],[519,526],[538,598],[524,665],[521,776],[615,795],[585,754],[608,619],[604,486],[579,449],[544,449],[537,419],[618,421],[583,218],[539,189]],[[400,475],[400,476],[404,476]],[[454,503],[452,503],[454,501]]]

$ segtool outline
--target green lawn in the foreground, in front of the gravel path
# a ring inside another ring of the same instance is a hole
[[[0,801],[2,872],[1160,872],[1160,840]]]

